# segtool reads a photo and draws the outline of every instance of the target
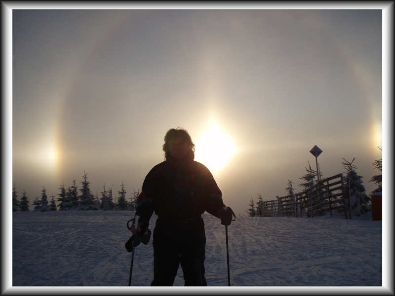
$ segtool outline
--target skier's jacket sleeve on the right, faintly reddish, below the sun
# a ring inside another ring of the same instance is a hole
[[[220,218],[222,208],[225,206],[222,201],[222,192],[214,180],[211,172],[205,168],[205,210],[207,213]]]

